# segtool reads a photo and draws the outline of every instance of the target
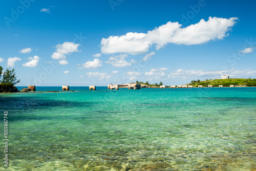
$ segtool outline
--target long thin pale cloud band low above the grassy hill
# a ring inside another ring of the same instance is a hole
[[[250,76],[255,75],[256,70],[235,70],[234,68],[231,70],[217,70],[217,71],[204,71],[204,70],[176,70],[171,72],[168,77],[169,78],[198,78],[200,76],[208,76],[208,77],[218,77],[221,78],[222,75],[229,76]]]

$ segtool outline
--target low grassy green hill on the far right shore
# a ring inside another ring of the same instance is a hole
[[[219,85],[223,85],[224,87],[229,87],[230,85],[235,86],[256,86],[256,79],[246,79],[246,78],[230,78],[230,79],[210,79],[205,81],[200,80],[192,80],[191,83],[188,83],[186,85],[198,87],[198,85],[202,85],[205,87],[208,87],[208,85],[212,85],[212,87],[219,87]]]

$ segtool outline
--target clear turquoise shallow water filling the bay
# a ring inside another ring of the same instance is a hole
[[[7,170],[256,169],[256,88],[88,89],[0,94]]]

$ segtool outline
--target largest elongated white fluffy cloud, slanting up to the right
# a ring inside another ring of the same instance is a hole
[[[199,23],[181,28],[179,23],[168,22],[152,31],[145,33],[126,33],[122,36],[102,38],[101,53],[126,53],[132,55],[144,54],[155,45],[156,49],[168,43],[177,45],[199,45],[210,40],[223,39],[227,32],[237,23],[238,18],[209,17],[206,22],[201,19]]]

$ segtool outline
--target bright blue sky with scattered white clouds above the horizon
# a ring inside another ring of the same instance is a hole
[[[254,1],[2,1],[17,86],[255,78]]]

